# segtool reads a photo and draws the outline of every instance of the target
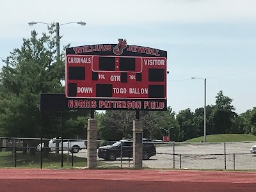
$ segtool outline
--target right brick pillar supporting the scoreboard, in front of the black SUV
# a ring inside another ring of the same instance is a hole
[[[141,120],[133,120],[133,164],[135,168],[142,168],[142,138],[143,127]]]

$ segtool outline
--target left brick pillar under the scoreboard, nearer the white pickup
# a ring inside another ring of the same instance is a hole
[[[93,118],[88,119],[87,166],[97,168],[97,120]]]

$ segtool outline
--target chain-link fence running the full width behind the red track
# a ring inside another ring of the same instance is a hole
[[[44,143],[42,146],[40,143]],[[87,166],[87,141],[38,138],[0,138],[0,167],[61,168]],[[79,150],[74,143],[84,145]],[[97,141],[98,147],[116,141]],[[178,143],[154,142],[156,154],[143,160],[143,168],[193,170],[256,170],[256,156],[250,153],[255,142],[239,143]],[[48,144],[48,146],[47,146]],[[108,150],[108,149],[106,149]],[[145,152],[145,149],[143,149]],[[99,149],[97,150],[99,152]],[[132,143],[120,146],[114,159],[97,156],[97,167],[132,168]],[[150,152],[149,152],[150,153]],[[144,156],[144,153],[143,153]],[[147,156],[146,156],[147,157]]]

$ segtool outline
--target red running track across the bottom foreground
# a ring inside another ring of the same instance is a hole
[[[255,191],[254,172],[0,169],[0,191]]]

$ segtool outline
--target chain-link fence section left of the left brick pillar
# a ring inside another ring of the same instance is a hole
[[[42,140],[40,138],[0,138],[0,167],[61,168],[63,166],[87,166],[85,156],[76,156],[78,152],[81,153],[86,150],[86,140],[63,139],[62,146],[63,150],[61,150],[60,138],[44,138]]]

